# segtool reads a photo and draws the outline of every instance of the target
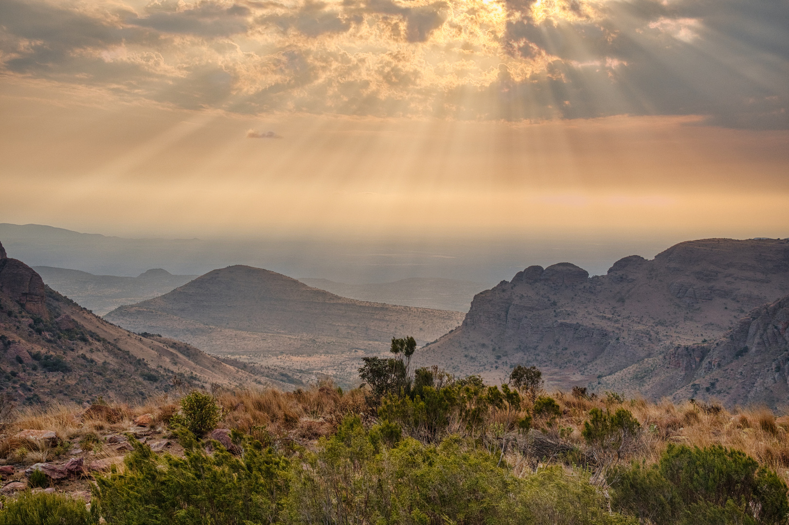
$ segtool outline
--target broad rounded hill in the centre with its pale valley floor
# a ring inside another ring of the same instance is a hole
[[[305,381],[317,373],[353,385],[361,357],[387,353],[391,337],[413,335],[424,344],[463,315],[348,299],[269,270],[228,266],[104,318],[214,355],[284,367]]]

